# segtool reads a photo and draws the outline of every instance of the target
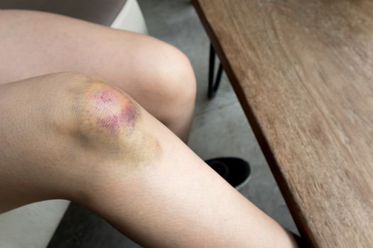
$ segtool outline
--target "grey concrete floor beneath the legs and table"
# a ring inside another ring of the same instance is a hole
[[[293,232],[296,227],[237,97],[223,75],[214,100],[207,99],[209,40],[188,0],[138,0],[149,34],[185,52],[195,70],[198,95],[189,145],[202,159],[234,156],[252,165],[241,193]],[[49,245],[55,247],[139,247],[90,210],[72,204]]]

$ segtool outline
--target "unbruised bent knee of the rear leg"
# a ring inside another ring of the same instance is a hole
[[[148,46],[150,48],[139,50],[144,58],[141,67],[145,67],[147,72],[141,76],[143,79],[139,88],[141,94],[151,98],[146,101],[156,103],[157,109],[152,113],[163,120],[169,118],[173,109],[193,108],[196,81],[188,57],[176,47],[161,41]]]

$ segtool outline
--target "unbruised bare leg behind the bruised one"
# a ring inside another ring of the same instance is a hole
[[[0,10],[0,55],[0,84],[83,72],[125,90],[176,135],[188,137],[193,69],[160,40],[53,13]]]

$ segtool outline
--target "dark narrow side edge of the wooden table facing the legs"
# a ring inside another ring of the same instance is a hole
[[[303,213],[299,210],[298,204],[296,203],[295,198],[293,198],[293,195],[291,194],[290,187],[284,179],[281,170],[279,169],[279,164],[277,163],[274,154],[271,152],[269,142],[266,140],[266,137],[264,136],[263,131],[260,128],[259,122],[256,119],[256,116],[246,99],[244,90],[239,85],[239,80],[237,79],[237,77],[234,76],[233,69],[229,64],[227,58],[224,56],[222,46],[220,45],[219,40],[215,36],[215,33],[213,32],[212,27],[210,26],[210,23],[207,21],[207,18],[202,11],[202,7],[200,6],[199,1],[191,0],[191,3],[193,4],[195,11],[197,12],[200,18],[202,26],[205,28],[207,36],[210,38],[210,42],[214,47],[215,52],[220,59],[220,62],[222,63],[222,67],[224,68],[225,73],[227,74],[227,77],[229,79],[229,82],[234,89],[234,93],[236,94],[239,103],[241,104],[242,109],[245,115],[247,116],[247,120],[249,121],[249,124],[252,127],[256,140],[259,143],[259,147],[261,148],[261,151],[263,152],[264,157],[266,158],[266,162],[269,164],[269,168],[271,169],[271,172],[274,175],[276,183],[279,185],[280,191],[283,195],[283,198],[286,201],[286,205],[288,206],[291,212],[291,215],[294,219],[294,222],[296,223],[296,226],[298,227],[299,232],[301,233],[302,237],[306,238],[308,244],[312,244],[312,247],[318,247],[318,244],[316,243],[316,239],[313,236],[313,233],[306,225],[306,218],[304,217]]]

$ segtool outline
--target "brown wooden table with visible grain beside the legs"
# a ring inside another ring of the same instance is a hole
[[[193,4],[302,235],[373,247],[373,2]]]

